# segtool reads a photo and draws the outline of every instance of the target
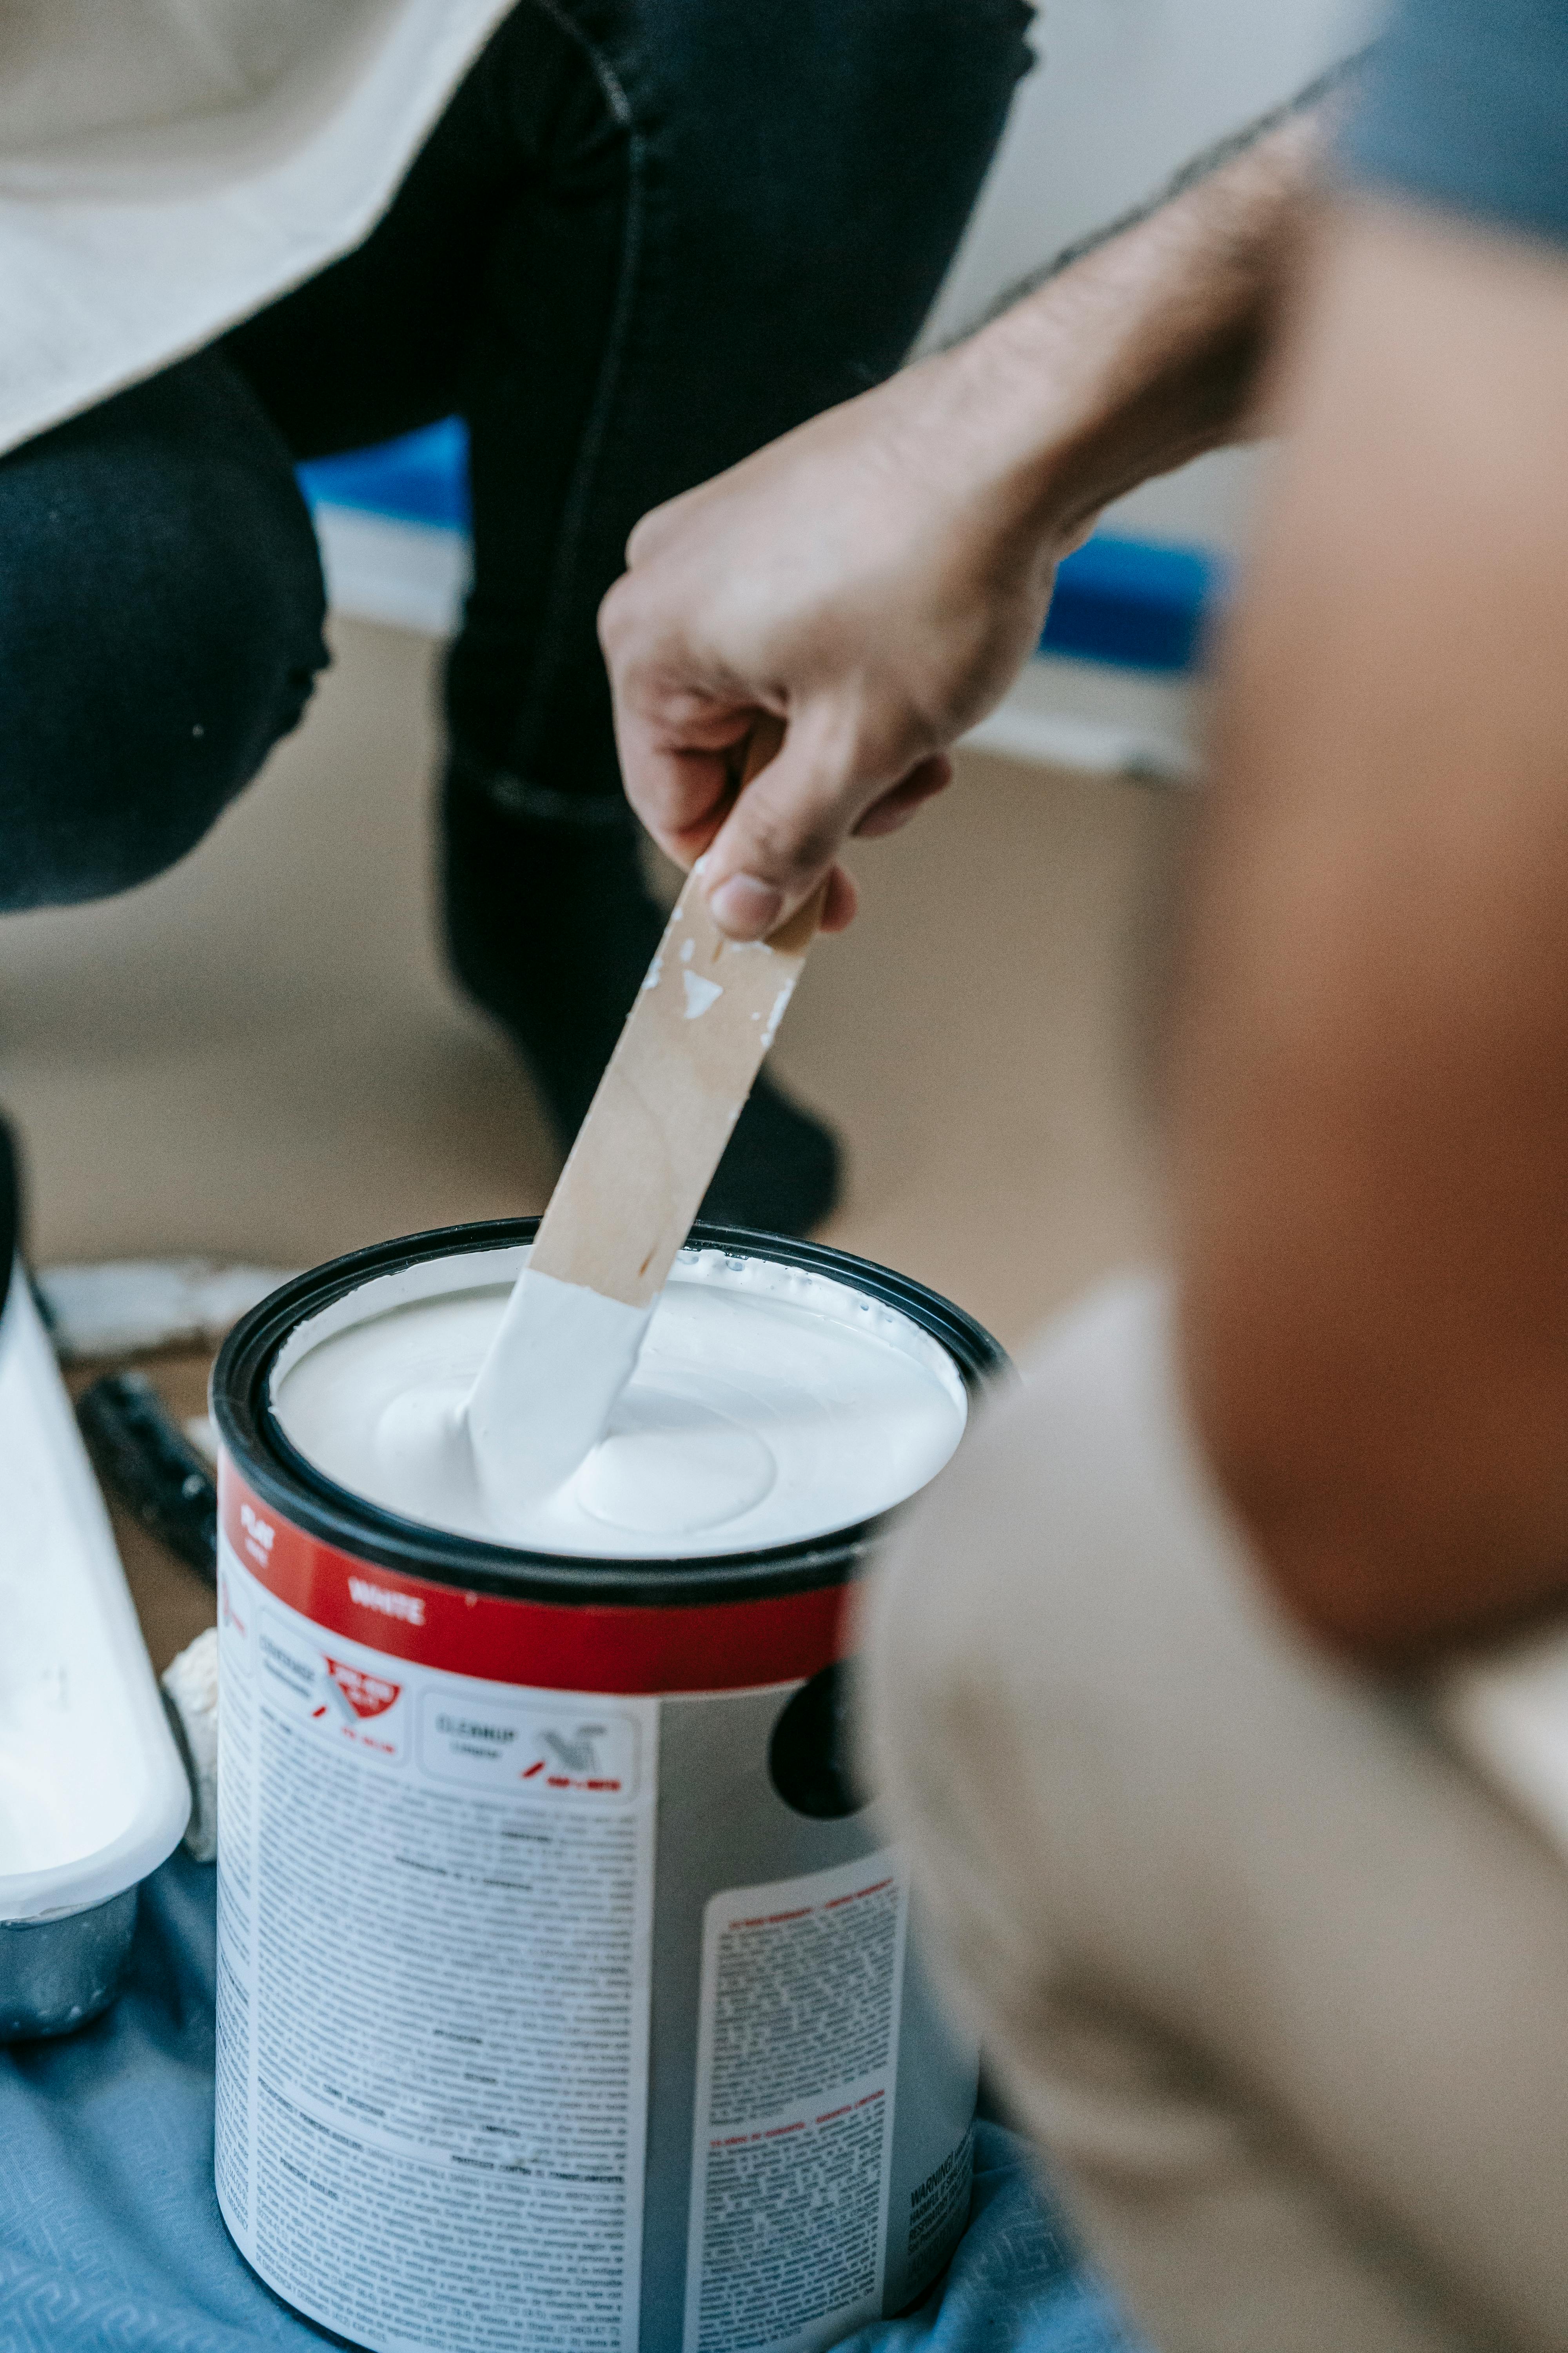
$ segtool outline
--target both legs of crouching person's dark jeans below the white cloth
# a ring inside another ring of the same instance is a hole
[[[454,958],[538,1049],[564,1012],[541,1002],[531,878],[545,929],[597,894],[618,1021],[649,929],[607,852],[625,819],[599,598],[649,506],[898,365],[1027,19],[1025,0],[520,0],[357,252],[0,459],[0,908],[125,889],[200,840],[327,659],[294,459],[458,412]],[[569,1125],[583,1073],[545,1080]]]

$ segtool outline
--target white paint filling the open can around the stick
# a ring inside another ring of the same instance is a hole
[[[952,1358],[827,1275],[684,1249],[644,1311],[527,1266],[515,1287],[496,1273],[475,1264],[447,1292],[393,1275],[350,1322],[303,1325],[273,1386],[299,1452],[456,1534],[686,1558],[867,1520],[964,1435]],[[538,1400],[522,1428],[520,1395]]]

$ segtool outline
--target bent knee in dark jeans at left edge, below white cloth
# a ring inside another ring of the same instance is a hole
[[[299,722],[322,619],[289,452],[221,358],[0,459],[0,908],[183,856]]]

